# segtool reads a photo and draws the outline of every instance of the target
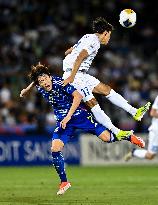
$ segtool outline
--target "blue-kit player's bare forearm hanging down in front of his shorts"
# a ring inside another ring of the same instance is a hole
[[[80,102],[83,98],[83,96],[77,91],[75,90],[72,93],[73,96],[73,102],[72,105],[70,107],[70,110],[68,112],[68,114],[66,115],[66,117],[61,121],[60,126],[65,129],[66,128],[66,124],[69,122],[69,120],[71,119],[72,115],[74,114],[74,112],[76,111],[76,109],[78,108],[78,106],[80,105]]]

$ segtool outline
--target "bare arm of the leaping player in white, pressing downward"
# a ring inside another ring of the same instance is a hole
[[[76,73],[77,73],[77,71],[78,71],[78,69],[79,69],[81,63],[83,62],[83,60],[84,60],[85,58],[88,57],[88,55],[89,55],[89,54],[88,54],[88,52],[87,52],[85,49],[83,49],[83,50],[80,52],[80,54],[78,55],[78,57],[77,57],[77,59],[76,59],[76,61],[75,61],[75,63],[74,63],[74,66],[73,66],[71,75],[70,75],[67,79],[65,79],[65,80],[63,81],[63,85],[64,85],[64,86],[67,85],[68,83],[72,83],[72,82],[74,81],[75,75],[76,75]]]

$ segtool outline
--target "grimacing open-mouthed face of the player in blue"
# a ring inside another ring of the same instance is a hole
[[[51,76],[47,74],[43,74],[39,76],[38,83],[39,83],[39,86],[44,88],[46,91],[52,90],[52,77]]]

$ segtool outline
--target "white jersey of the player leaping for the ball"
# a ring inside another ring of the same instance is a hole
[[[98,36],[95,34],[86,34],[84,35],[78,42],[73,46],[73,50],[69,53],[65,59],[63,60],[63,70],[72,69],[80,52],[85,49],[89,56],[83,60],[81,63],[79,70],[86,70],[88,71],[90,65],[94,57],[98,53],[98,49],[100,48],[100,41]]]

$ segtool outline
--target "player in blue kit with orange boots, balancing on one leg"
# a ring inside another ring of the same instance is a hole
[[[139,147],[145,146],[144,141],[134,134],[129,137],[117,138],[115,134],[99,124],[92,113],[87,111],[84,104],[81,103],[83,96],[70,84],[63,87],[63,79],[51,76],[46,66],[41,64],[32,66],[29,77],[33,83],[26,88],[27,93],[36,86],[46,101],[53,106],[56,116],[56,129],[52,136],[51,152],[53,165],[61,180],[57,195],[64,194],[71,187],[66,177],[64,157],[61,151],[64,145],[71,140],[75,129],[92,133],[107,143],[128,140]],[[23,97],[22,94],[20,96]]]

